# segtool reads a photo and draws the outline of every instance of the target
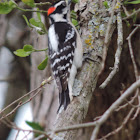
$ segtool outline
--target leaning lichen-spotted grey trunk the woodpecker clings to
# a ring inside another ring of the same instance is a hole
[[[97,84],[98,75],[99,72],[101,71],[100,57],[103,55],[103,45],[104,45],[103,41],[105,38],[105,32],[108,22],[108,20],[105,22],[105,19],[106,18],[109,19],[109,15],[105,12],[101,12],[100,14],[98,13],[100,8],[104,10],[104,8],[100,5],[99,1],[87,2],[81,0],[77,8],[81,10],[80,8],[83,8],[83,6],[85,6],[84,4],[86,5],[86,9],[84,10],[83,13],[81,13],[80,17],[81,20],[83,20],[81,26],[82,31],[81,37],[83,39],[83,48],[85,49],[85,51],[87,50],[92,51],[92,48],[94,48],[91,57],[95,59],[97,62],[96,63],[90,62],[89,64],[84,63],[83,67],[81,68],[81,71],[77,76],[78,81],[80,81],[82,84],[80,87],[77,86],[76,88],[73,89],[74,90],[73,92],[75,92],[75,90],[77,91],[80,88],[80,96],[74,98],[72,103],[68,106],[68,109],[59,114],[58,118],[56,119],[56,123],[54,125],[55,128],[69,126],[72,124],[79,124],[85,121],[89,109],[89,104],[93,96],[93,91],[95,90]],[[93,13],[93,15],[91,13]],[[96,24],[94,24],[95,22]],[[99,27],[99,30],[96,30],[97,26]],[[101,30],[102,27],[103,29]],[[111,31],[109,34],[110,37],[112,36],[113,31],[114,31],[113,24],[111,24]],[[91,40],[94,41],[92,42]],[[77,83],[75,82],[75,84]],[[77,133],[78,133],[77,130],[66,131],[58,133],[56,136],[54,136],[53,139],[74,140],[78,138]]]

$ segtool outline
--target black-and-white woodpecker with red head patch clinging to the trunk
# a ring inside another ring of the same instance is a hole
[[[77,69],[82,66],[80,35],[70,20],[70,1],[59,1],[48,9],[50,27],[48,48],[51,69],[59,89],[59,109],[73,99],[72,87]]]

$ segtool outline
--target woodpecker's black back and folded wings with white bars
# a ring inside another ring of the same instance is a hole
[[[62,93],[68,88],[68,78],[76,47],[76,31],[66,22],[56,22],[50,27],[48,36],[51,68],[59,92]]]

